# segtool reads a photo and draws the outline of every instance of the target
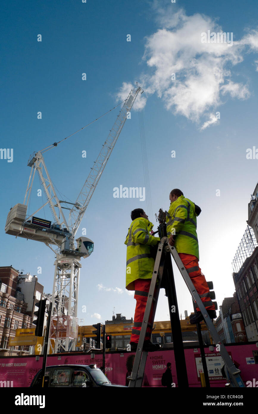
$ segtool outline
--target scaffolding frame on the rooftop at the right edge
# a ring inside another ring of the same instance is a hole
[[[247,226],[232,261],[233,272],[238,277],[244,271],[246,260],[250,258],[256,247],[258,247],[258,244],[254,231],[252,227]]]

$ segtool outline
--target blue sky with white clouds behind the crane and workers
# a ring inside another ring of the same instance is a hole
[[[231,262],[258,179],[258,161],[246,159],[246,150],[258,147],[256,2],[5,1],[2,11],[1,147],[12,148],[14,155],[10,163],[0,159],[1,266],[31,274],[41,266],[39,282],[52,292],[53,252],[43,243],[4,232],[10,207],[24,200],[29,155],[113,108],[138,82],[144,89],[153,213],[169,208],[172,188],[201,207],[200,267],[213,280],[219,304],[232,296]],[[201,43],[201,33],[208,30],[233,33],[233,44]],[[118,111],[45,153],[53,183],[67,200],[76,200]],[[114,198],[113,188],[144,187],[141,160],[136,102],[76,234],[86,228],[95,243],[91,257],[82,259],[78,317],[85,325],[112,319],[114,308],[134,316],[135,300],[125,290],[124,240],[131,210],[147,207],[146,201]],[[42,204],[38,188],[36,179],[31,213]],[[47,208],[41,213],[38,217],[52,220]],[[179,314],[184,315],[192,311],[191,296],[179,272],[174,273]],[[156,320],[168,319],[163,293]]]

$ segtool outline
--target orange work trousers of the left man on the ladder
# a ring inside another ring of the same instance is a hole
[[[136,279],[134,281],[134,299],[136,299],[136,308],[134,313],[134,327],[131,333],[131,341],[136,344],[139,342],[141,326],[143,323],[143,316],[146,308],[146,303],[148,299],[148,293],[150,290],[150,282],[151,279]],[[152,314],[153,314],[153,303],[150,310],[150,317],[148,320],[148,326],[146,330],[146,335],[144,340],[150,340],[151,332],[152,332]]]

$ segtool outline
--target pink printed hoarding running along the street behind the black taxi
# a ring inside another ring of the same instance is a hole
[[[253,352],[256,351],[255,344],[228,346],[227,351],[231,355],[233,361],[240,364],[241,377],[246,383],[248,380],[256,378],[258,380],[258,364],[253,363]],[[200,351],[194,352],[194,349],[185,349],[186,366],[188,373],[188,381],[190,387],[200,387],[200,378],[198,372],[201,372],[201,356]],[[206,359],[208,362],[208,371],[211,387],[223,387],[225,380],[221,378],[219,370],[222,368],[219,352],[209,351],[205,348]],[[134,354],[131,352],[108,353],[105,358],[105,373],[108,379],[115,384],[127,385],[126,377],[131,371],[134,361]],[[172,364],[173,382],[177,386],[176,366],[174,361],[173,350],[161,350],[148,354],[146,369],[144,375],[145,387],[162,387],[161,377],[166,369],[167,362]],[[91,358],[90,354],[74,353],[69,355],[49,356],[47,366],[62,364],[83,364],[88,365],[96,363],[98,367],[102,365],[102,355],[95,354],[95,358]],[[0,381],[13,381],[14,387],[29,387],[32,379],[42,367],[42,357],[36,361],[35,356],[28,357],[12,357],[0,359]]]

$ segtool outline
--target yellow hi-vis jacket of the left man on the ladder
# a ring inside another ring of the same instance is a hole
[[[124,244],[127,245],[127,270],[126,289],[134,289],[136,279],[151,279],[155,260],[151,257],[150,246],[155,246],[159,237],[150,235],[153,224],[139,217],[131,222],[127,238]]]

